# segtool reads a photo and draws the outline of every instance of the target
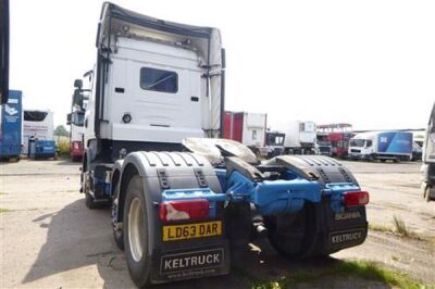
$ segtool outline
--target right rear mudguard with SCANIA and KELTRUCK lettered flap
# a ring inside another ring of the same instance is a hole
[[[316,179],[321,185],[321,201],[315,208],[313,254],[331,254],[364,242],[368,235],[365,206],[346,209],[345,191],[360,190],[348,168],[332,158],[320,155],[283,155],[271,160],[300,177]]]

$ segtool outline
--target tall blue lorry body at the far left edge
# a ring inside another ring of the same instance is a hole
[[[10,90],[9,100],[0,109],[0,159],[20,160],[22,143],[22,91]]]

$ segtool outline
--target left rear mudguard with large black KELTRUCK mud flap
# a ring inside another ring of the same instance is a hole
[[[150,221],[148,222],[150,282],[160,284],[227,274],[229,272],[229,253],[224,231],[221,236],[215,237],[163,241],[163,225],[198,222],[174,221],[163,224],[159,217],[159,204],[162,201],[202,198],[213,203],[214,217],[201,222],[221,221],[223,223],[225,198],[222,198],[224,194],[210,163],[202,156],[191,153],[134,152],[128,154],[121,167],[117,194],[113,202],[115,204],[113,210],[119,223],[122,223],[123,202],[129,178],[133,175],[141,177],[144,194],[147,200],[147,217]],[[189,263],[189,260],[207,257],[213,257],[214,261],[219,259],[219,263],[213,263],[207,268],[200,266],[199,263]]]

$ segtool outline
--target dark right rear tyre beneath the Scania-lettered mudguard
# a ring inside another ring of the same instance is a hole
[[[290,260],[313,256],[315,223],[315,210],[311,204],[306,204],[298,213],[271,216],[266,222],[269,241],[279,254]]]

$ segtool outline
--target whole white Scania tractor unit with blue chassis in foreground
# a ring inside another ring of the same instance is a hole
[[[221,139],[225,53],[219,29],[104,3],[85,112],[82,192],[111,206],[113,237],[138,287],[224,275],[269,238],[289,259],[361,244],[369,193],[327,156],[260,162]]]

